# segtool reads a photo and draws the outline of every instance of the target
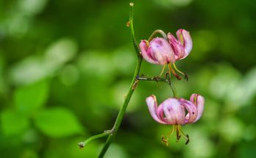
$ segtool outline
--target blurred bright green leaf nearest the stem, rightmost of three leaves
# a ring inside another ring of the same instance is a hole
[[[49,137],[67,137],[82,132],[82,126],[68,109],[55,107],[35,115],[35,126]]]

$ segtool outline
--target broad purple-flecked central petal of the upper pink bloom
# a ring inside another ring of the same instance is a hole
[[[165,65],[168,62],[175,62],[174,50],[171,48],[167,40],[162,37],[157,37],[150,43],[152,53],[160,65]]]

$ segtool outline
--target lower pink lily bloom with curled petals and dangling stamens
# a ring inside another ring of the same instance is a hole
[[[190,101],[184,98],[167,98],[163,103],[157,106],[157,98],[152,95],[146,98],[146,104],[149,112],[155,121],[162,124],[174,125],[167,138],[162,136],[163,143],[168,146],[168,138],[177,132],[177,141],[182,136],[186,143],[189,142],[188,134],[182,132],[181,125],[195,123],[201,118],[205,106],[205,98],[199,94],[192,94]]]

